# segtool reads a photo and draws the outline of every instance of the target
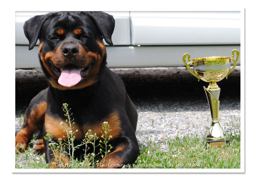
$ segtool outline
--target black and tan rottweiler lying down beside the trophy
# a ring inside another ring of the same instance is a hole
[[[15,137],[17,150],[24,151],[21,144],[26,149],[36,130],[41,130],[43,136],[51,133],[55,142],[65,139],[60,122],[67,124],[62,110],[62,104],[67,103],[75,122],[75,144],[85,139],[88,130],[102,139],[106,121],[111,129],[108,135],[112,135],[108,144],[113,148],[105,158],[104,168],[120,168],[135,161],[139,155],[137,111],[122,79],[106,67],[103,39],[113,46],[114,26],[113,16],[104,12],[53,12],[25,22],[29,50],[40,40],[39,59],[49,87],[30,102],[24,124]],[[49,143],[38,140],[33,149],[45,151],[46,162],[52,163],[54,154],[48,149]],[[85,152],[76,151],[77,157]],[[69,157],[62,157],[62,161],[68,164]],[[101,168],[100,164],[97,168]]]

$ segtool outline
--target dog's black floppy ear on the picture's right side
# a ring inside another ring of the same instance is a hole
[[[113,16],[102,11],[90,11],[87,12],[87,14],[95,21],[98,29],[100,30],[100,33],[104,37],[104,40],[109,45],[113,46],[112,34],[115,26],[115,20]]]

